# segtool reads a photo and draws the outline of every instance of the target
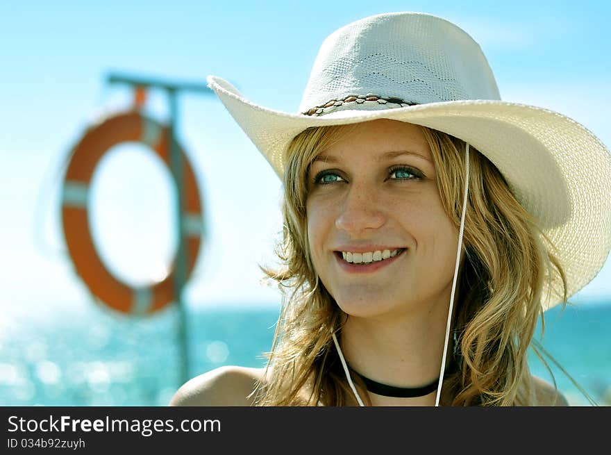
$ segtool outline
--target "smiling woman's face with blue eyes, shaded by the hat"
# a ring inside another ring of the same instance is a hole
[[[322,283],[353,316],[447,308],[458,231],[424,134],[388,119],[354,131],[308,173],[308,240]]]

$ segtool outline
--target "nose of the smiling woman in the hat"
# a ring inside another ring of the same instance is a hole
[[[382,205],[374,188],[353,183],[340,204],[335,227],[353,237],[378,229],[386,221]]]

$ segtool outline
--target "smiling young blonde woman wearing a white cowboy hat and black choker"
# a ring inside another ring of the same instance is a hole
[[[499,99],[467,33],[390,13],[323,43],[300,114],[214,89],[283,179],[285,299],[265,369],[188,381],[187,406],[563,406],[537,318],[611,245],[611,156]]]

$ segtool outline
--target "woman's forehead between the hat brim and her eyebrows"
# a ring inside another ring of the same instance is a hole
[[[317,161],[332,163],[344,157],[391,160],[411,155],[432,161],[430,147],[419,126],[390,119],[355,124],[320,151]]]

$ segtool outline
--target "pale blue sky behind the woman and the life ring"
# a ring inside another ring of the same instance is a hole
[[[90,299],[63,245],[62,162],[85,126],[126,108],[110,72],[205,85],[227,78],[246,97],[294,112],[319,44],[368,15],[423,11],[457,23],[483,48],[506,101],[584,124],[608,146],[608,2],[307,1],[0,3],[0,224],[3,305]],[[212,96],[179,97],[179,135],[201,184],[208,235],[190,305],[277,304],[258,263],[273,263],[280,182]],[[160,92],[149,113],[167,116]],[[109,269],[131,283],[163,274],[174,254],[169,175],[136,145],[101,163],[90,216]],[[611,297],[611,261],[577,296]]]

